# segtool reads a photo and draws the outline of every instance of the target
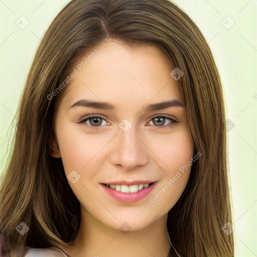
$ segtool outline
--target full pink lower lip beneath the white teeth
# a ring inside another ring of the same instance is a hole
[[[140,201],[141,199],[145,198],[155,187],[156,182],[137,193],[122,193],[120,191],[116,191],[114,189],[111,189],[103,184],[101,186],[106,190],[106,192],[112,196],[115,200],[122,202],[122,203],[135,203]]]

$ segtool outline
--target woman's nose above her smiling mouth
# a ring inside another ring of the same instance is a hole
[[[137,135],[136,126],[132,126],[127,132],[118,130],[114,141],[110,158],[113,165],[131,170],[148,163],[147,144]]]

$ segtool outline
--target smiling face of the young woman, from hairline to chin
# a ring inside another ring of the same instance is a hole
[[[97,49],[81,59],[91,54],[85,67],[78,62],[65,88],[55,116],[57,144],[82,215],[138,230],[178,201],[193,142],[178,82],[170,75],[175,67],[161,52],[117,42]]]

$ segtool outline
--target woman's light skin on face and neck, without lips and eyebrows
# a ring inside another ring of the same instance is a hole
[[[73,170],[80,175],[75,184],[68,183],[81,204],[81,226],[74,246],[64,250],[72,257],[164,257],[170,248],[168,212],[183,193],[190,169],[154,203],[150,197],[191,160],[193,142],[184,106],[144,108],[170,100],[183,103],[179,84],[170,76],[174,67],[149,46],[107,41],[97,49],[96,57],[65,88],[55,116],[52,156],[62,158],[66,176]],[[115,109],[71,107],[82,99],[108,102]],[[89,114],[100,117],[96,124]],[[86,120],[78,123],[81,119]],[[123,119],[132,125],[126,132],[119,127]],[[100,184],[118,180],[157,183],[140,201],[122,203]],[[120,231],[124,222],[128,233]]]

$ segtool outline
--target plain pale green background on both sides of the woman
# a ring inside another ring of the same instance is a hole
[[[1,171],[13,134],[7,135],[7,131],[35,50],[50,22],[68,2],[0,0]],[[176,3],[203,32],[221,75],[227,115],[235,124],[228,136],[236,256],[257,256],[257,1]],[[30,22],[24,30],[16,25],[21,16]],[[221,23],[227,16],[235,22],[229,30]]]

